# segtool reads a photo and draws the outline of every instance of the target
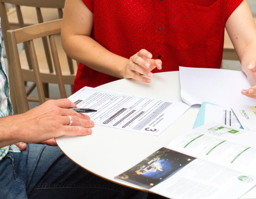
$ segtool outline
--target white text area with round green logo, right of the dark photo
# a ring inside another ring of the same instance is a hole
[[[197,158],[150,191],[171,199],[237,199],[256,184],[255,179]]]

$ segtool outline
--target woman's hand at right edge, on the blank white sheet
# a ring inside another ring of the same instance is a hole
[[[244,72],[252,87],[242,90],[241,93],[247,97],[256,98],[256,61],[250,61]]]

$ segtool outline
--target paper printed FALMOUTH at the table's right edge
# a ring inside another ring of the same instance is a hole
[[[256,102],[255,102],[256,104]],[[256,107],[232,108],[242,127],[250,131],[256,131]]]

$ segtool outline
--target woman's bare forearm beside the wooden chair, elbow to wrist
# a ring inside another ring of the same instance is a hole
[[[99,72],[124,77],[128,59],[111,53],[94,39],[84,35],[68,36],[62,33],[62,43],[65,52],[73,59]]]

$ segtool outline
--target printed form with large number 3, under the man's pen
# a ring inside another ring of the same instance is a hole
[[[190,106],[182,102],[127,95],[84,87],[69,99],[79,108],[96,109],[87,113],[96,125],[158,136]]]

